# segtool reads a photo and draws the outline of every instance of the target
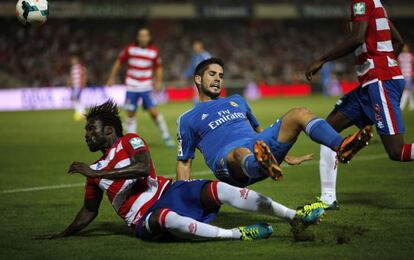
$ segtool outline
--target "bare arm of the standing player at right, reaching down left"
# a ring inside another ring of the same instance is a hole
[[[339,59],[355,51],[361,44],[364,43],[367,28],[367,21],[352,22],[351,32],[346,39],[308,66],[305,74],[306,79],[311,81],[312,76],[315,75],[326,62]]]

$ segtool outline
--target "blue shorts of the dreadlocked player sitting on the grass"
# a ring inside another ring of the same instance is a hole
[[[181,216],[189,217],[203,223],[213,221],[220,206],[217,206],[213,212],[206,213],[200,200],[203,187],[210,182],[209,180],[191,180],[176,181],[171,184],[161,198],[145,213],[142,221],[137,223],[135,235],[138,238],[154,240],[156,235],[148,230],[147,222],[151,214],[158,209],[169,209]]]

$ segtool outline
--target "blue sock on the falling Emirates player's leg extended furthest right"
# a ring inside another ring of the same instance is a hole
[[[334,151],[344,140],[328,122],[317,117],[308,122],[305,132],[313,141],[328,146]]]

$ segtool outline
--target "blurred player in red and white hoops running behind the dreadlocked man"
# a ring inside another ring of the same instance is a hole
[[[174,147],[164,116],[156,108],[152,92],[160,91],[163,80],[163,67],[160,52],[152,43],[148,28],[140,28],[137,32],[136,43],[129,44],[118,56],[112,67],[106,83],[111,86],[122,64],[127,64],[125,84],[127,93],[125,110],[127,111],[127,126],[129,133],[136,133],[137,121],[135,112],[138,102],[142,101],[154,123],[161,130],[162,138],[168,147]]]

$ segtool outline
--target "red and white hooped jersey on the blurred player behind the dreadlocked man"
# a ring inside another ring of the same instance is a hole
[[[154,45],[142,48],[128,45],[118,57],[121,63],[128,62],[125,84],[128,91],[145,92],[154,87],[154,69],[161,66],[160,52]]]

